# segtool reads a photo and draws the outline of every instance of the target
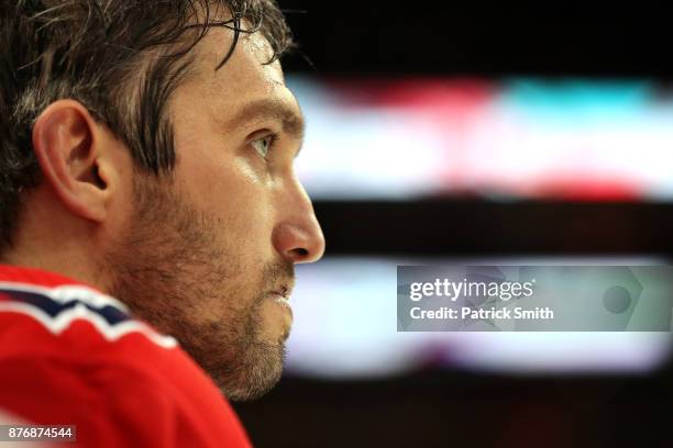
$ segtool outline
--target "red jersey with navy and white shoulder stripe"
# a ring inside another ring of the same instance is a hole
[[[76,425],[82,447],[249,447],[176,340],[63,276],[0,266],[0,414]],[[73,444],[67,444],[73,446]]]

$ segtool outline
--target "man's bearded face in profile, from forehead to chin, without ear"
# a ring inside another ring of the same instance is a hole
[[[225,30],[199,44],[169,105],[172,181],[134,173],[134,213],[107,262],[112,295],[175,336],[232,400],[280,377],[294,265],[324,249],[293,169],[302,120],[260,33],[232,58]]]

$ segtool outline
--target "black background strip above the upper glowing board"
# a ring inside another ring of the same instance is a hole
[[[670,78],[671,15],[654,2],[280,1],[312,70]],[[328,8],[329,7],[329,8]],[[305,11],[305,12],[300,12]]]

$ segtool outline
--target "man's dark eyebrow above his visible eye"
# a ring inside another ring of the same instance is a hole
[[[295,109],[288,104],[277,100],[257,100],[245,104],[231,120],[227,122],[228,128],[240,127],[246,123],[275,120],[283,126],[283,132],[299,141],[300,145],[297,149],[297,155],[301,149],[304,134],[306,130],[306,121],[301,113],[297,113]]]

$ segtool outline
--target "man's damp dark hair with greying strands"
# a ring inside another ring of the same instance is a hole
[[[275,0],[3,0],[0,4],[0,251],[11,245],[22,190],[40,182],[32,128],[75,99],[130,148],[136,168],[175,165],[170,93],[212,26],[261,32],[274,61],[293,46]]]

